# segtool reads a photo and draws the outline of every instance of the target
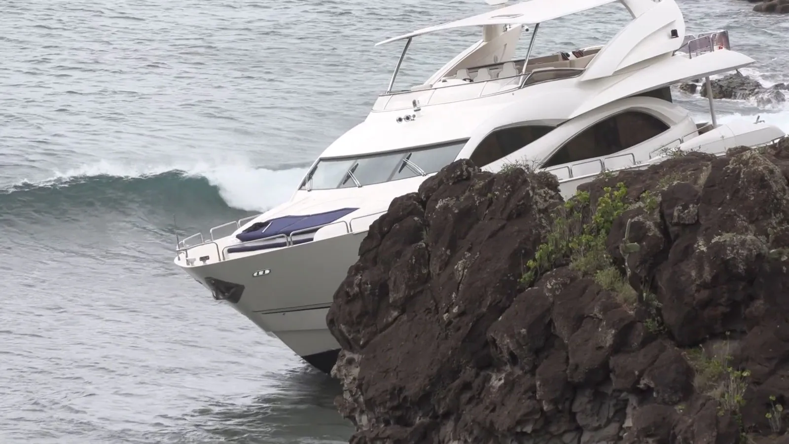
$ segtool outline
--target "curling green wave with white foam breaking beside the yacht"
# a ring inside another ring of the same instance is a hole
[[[100,162],[0,189],[0,216],[20,212],[52,217],[86,211],[262,212],[286,201],[305,170],[243,165],[135,169]]]

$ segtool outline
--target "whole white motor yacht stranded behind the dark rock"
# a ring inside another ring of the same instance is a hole
[[[709,124],[673,103],[671,85],[707,77],[709,88],[709,76],[754,62],[729,49],[725,31],[686,36],[675,0],[506,2],[488,0],[486,13],[377,43],[405,47],[365,121],[320,154],[289,201],[184,239],[175,264],[329,372],[339,345],[327,310],[369,225],[454,160],[497,171],[528,158],[570,195],[601,171],[659,161],[661,149],[722,154],[784,136],[763,122],[719,125],[712,100]],[[612,2],[632,20],[608,43],[532,56],[540,27]],[[466,27],[481,27],[481,40],[421,85],[394,88],[413,39]],[[524,34],[525,57],[517,58]]]

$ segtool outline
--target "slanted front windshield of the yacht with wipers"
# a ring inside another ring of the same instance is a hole
[[[299,189],[348,188],[435,173],[452,163],[466,141],[355,158],[318,160]]]

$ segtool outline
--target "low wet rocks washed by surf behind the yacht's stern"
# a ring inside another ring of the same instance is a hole
[[[786,0],[789,2],[789,0]],[[685,83],[679,88],[689,94],[697,91],[702,97],[707,96],[707,88],[703,81],[701,83]],[[753,100],[757,106],[783,103],[786,101],[785,92],[787,86],[783,83],[765,87],[759,81],[748,77],[742,73],[733,73],[711,82],[713,99],[733,99],[733,100]]]

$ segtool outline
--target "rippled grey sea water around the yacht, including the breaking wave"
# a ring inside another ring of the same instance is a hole
[[[789,22],[683,0],[787,81]],[[0,443],[346,442],[337,384],[173,265],[179,235],[284,201],[364,119],[402,47],[481,0],[0,2]],[[599,43],[619,4],[544,24],[536,53]],[[477,38],[412,46],[417,81]],[[698,97],[677,99],[704,115]],[[721,120],[789,130],[789,108]]]

